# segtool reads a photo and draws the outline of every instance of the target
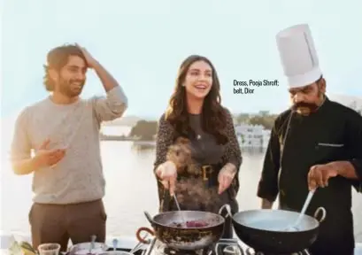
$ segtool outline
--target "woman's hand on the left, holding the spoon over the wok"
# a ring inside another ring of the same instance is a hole
[[[166,161],[158,166],[156,170],[158,178],[161,179],[165,189],[170,189],[170,195],[173,196],[177,179],[177,168],[172,161]]]

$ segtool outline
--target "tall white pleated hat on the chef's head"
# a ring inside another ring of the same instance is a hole
[[[320,79],[317,50],[307,24],[281,30],[276,35],[276,42],[289,88],[304,87]]]

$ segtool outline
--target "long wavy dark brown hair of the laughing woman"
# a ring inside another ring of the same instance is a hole
[[[219,144],[227,143],[225,135],[226,112],[221,106],[220,81],[212,62],[203,56],[192,55],[186,58],[179,69],[173,95],[166,111],[166,120],[173,126],[177,136],[195,137],[189,127],[189,112],[186,100],[186,88],[182,86],[191,66],[196,61],[204,61],[212,67],[212,89],[204,99],[202,109],[202,128],[205,133],[215,136]],[[174,137],[176,138],[176,137]]]

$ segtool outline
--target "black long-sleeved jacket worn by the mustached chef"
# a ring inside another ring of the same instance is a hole
[[[312,216],[323,206],[327,217],[320,223],[319,237],[310,248],[313,255],[353,254],[351,187],[361,192],[362,117],[326,98],[310,116],[288,110],[275,120],[258,197],[274,201],[279,193],[281,209],[300,212],[309,191],[307,175],[311,166],[339,160],[350,161],[359,179],[337,176],[329,179],[327,188],[315,192],[306,213]]]

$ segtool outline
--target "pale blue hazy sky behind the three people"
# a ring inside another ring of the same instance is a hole
[[[2,117],[47,97],[47,52],[78,42],[127,93],[127,115],[158,117],[181,61],[210,58],[232,112],[281,112],[289,105],[275,35],[308,23],[327,92],[362,97],[361,1],[3,0]],[[278,80],[279,87],[235,95],[234,80]],[[104,95],[94,72],[82,97]]]

